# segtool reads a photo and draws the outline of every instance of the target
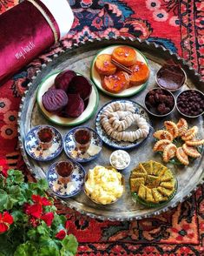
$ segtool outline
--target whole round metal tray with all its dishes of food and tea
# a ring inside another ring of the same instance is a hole
[[[23,159],[50,195],[92,218],[166,212],[204,180],[203,91],[200,76],[159,45],[75,45],[22,98]]]

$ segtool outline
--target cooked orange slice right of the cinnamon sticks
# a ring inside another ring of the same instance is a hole
[[[133,71],[129,76],[130,86],[141,85],[148,80],[149,69],[147,64],[141,61],[136,61],[136,63],[130,69]]]

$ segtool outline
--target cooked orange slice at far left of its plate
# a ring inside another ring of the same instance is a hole
[[[95,59],[95,70],[104,76],[110,76],[115,74],[116,71],[115,64],[111,63],[111,55],[101,54]]]

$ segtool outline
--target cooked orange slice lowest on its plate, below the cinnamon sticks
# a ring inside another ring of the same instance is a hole
[[[109,77],[105,76],[102,81],[102,88],[111,93],[118,93],[125,90],[129,84],[128,73],[118,71]]]

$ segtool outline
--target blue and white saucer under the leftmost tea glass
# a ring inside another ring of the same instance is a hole
[[[53,143],[51,147],[47,150],[42,150],[38,144],[37,131],[41,128],[49,127],[54,132]],[[26,152],[31,158],[38,161],[49,161],[56,158],[63,150],[63,138],[61,133],[56,130],[55,127],[50,125],[38,125],[32,128],[25,137],[24,146]]]

